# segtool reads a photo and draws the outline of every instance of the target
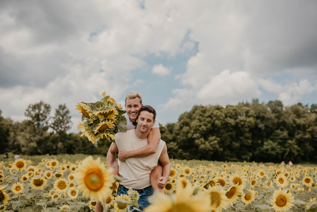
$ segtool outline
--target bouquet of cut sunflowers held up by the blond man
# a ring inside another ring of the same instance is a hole
[[[81,122],[77,129],[81,130],[81,136],[85,135],[89,141],[111,141],[117,132],[126,132],[126,117],[119,103],[113,98],[102,93],[103,98],[95,103],[78,103],[76,110],[82,113]]]

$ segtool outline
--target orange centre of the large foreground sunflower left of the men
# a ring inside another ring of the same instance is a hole
[[[88,169],[84,181],[88,189],[98,191],[104,184],[103,174],[100,169]]]

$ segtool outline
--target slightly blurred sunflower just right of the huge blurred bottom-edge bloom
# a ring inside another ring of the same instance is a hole
[[[226,197],[226,191],[220,189],[219,187],[209,187],[209,189],[204,190],[204,195],[210,194],[210,210],[222,211],[226,209],[229,205]]]

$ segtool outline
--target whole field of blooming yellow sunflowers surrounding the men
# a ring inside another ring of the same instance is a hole
[[[137,192],[116,197],[105,161],[82,159],[1,161],[0,211],[94,211],[101,200],[107,211],[136,209]],[[317,211],[316,178],[314,166],[173,160],[165,194],[144,211]]]

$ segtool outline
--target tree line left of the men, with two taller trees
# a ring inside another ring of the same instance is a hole
[[[65,104],[55,109],[54,116],[50,112],[51,106],[41,101],[28,106],[24,113],[26,120],[13,122],[3,118],[0,110],[0,154],[107,154],[110,143],[93,145],[80,132],[67,133],[72,122]]]

